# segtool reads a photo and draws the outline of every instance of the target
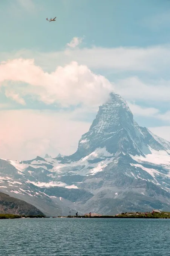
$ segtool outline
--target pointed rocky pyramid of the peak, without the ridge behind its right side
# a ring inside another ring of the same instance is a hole
[[[96,148],[106,147],[112,154],[127,151],[134,155],[140,152],[141,134],[133,124],[133,114],[126,101],[117,93],[110,93],[109,100],[99,107],[90,129],[78,143],[77,152],[72,157],[89,155]]]

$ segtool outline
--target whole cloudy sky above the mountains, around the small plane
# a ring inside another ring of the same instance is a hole
[[[0,23],[0,158],[73,154],[112,90],[170,141],[170,0],[2,0]]]

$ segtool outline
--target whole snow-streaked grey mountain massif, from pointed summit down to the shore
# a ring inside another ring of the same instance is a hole
[[[0,160],[0,191],[46,215],[170,211],[170,142],[133,120],[111,93],[70,156]]]

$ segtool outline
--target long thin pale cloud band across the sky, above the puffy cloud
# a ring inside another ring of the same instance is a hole
[[[66,65],[72,61],[87,65],[92,69],[110,69],[112,72],[145,71],[160,74],[169,71],[170,45],[118,48],[67,48],[56,52],[35,52],[21,50],[13,53],[0,53],[0,61],[14,58],[34,58],[37,65],[53,70],[58,65]]]

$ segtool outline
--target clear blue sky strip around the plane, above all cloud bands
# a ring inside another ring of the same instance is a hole
[[[87,47],[147,47],[170,41],[168,0],[6,0],[0,5],[1,51],[62,50],[72,37],[84,35]],[[55,16],[57,24],[46,22]]]

